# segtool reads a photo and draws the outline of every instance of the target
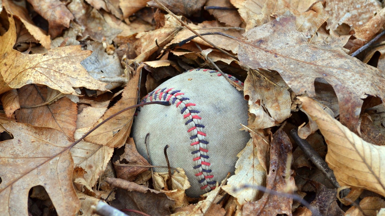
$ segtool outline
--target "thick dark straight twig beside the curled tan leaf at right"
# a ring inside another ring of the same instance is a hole
[[[301,148],[306,157],[308,157],[311,162],[313,162],[315,166],[320,169],[323,174],[325,174],[326,178],[329,179],[330,183],[333,184],[335,188],[339,188],[340,184],[338,184],[333,170],[329,168],[328,164],[321,158],[320,155],[318,155],[318,152],[316,152],[314,148],[311,147],[308,141],[303,140],[300,138],[300,136],[298,136],[298,128],[294,128],[293,130],[291,130],[290,135],[293,140],[297,143],[297,145]]]

